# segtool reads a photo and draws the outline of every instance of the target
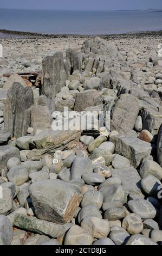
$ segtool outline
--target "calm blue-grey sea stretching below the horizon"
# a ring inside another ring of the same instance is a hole
[[[119,34],[162,29],[162,10],[63,11],[0,9],[0,28],[50,34]]]

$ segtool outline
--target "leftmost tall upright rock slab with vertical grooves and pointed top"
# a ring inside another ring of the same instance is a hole
[[[30,126],[31,105],[34,104],[33,90],[21,83],[12,84],[4,105],[4,131],[16,138],[27,135]]]

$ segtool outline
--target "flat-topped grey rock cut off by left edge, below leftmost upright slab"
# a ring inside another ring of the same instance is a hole
[[[7,162],[11,157],[20,159],[19,149],[8,145],[0,146],[0,169],[7,166]]]

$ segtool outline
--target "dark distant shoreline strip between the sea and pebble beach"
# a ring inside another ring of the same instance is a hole
[[[162,36],[162,30],[160,31],[140,31],[140,32],[129,32],[122,34],[94,34],[94,35],[86,35],[86,34],[43,34],[43,33],[34,33],[34,32],[24,32],[24,31],[10,31],[8,29],[0,29],[0,39],[33,39],[33,38],[94,38],[96,36],[100,36],[105,39],[113,39],[113,38],[127,38],[133,37],[142,38],[144,36]]]

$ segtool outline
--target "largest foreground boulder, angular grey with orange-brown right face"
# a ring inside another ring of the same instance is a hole
[[[81,199],[81,188],[62,180],[43,180],[29,187],[36,216],[55,223],[70,222]]]

